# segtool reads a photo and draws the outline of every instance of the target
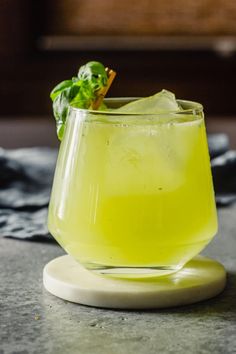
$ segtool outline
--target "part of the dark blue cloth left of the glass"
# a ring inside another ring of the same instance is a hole
[[[29,240],[53,240],[47,207],[57,150],[0,149],[0,235]]]

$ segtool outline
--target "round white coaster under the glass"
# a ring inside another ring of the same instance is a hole
[[[53,295],[83,305],[154,309],[192,304],[216,296],[225,287],[226,272],[220,263],[197,256],[171,275],[120,279],[94,274],[66,255],[44,267],[43,282]]]

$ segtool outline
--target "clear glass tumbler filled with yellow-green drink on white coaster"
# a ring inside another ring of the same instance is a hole
[[[165,114],[71,107],[48,225],[87,269],[125,277],[169,274],[216,234],[203,108],[179,102],[182,111]]]

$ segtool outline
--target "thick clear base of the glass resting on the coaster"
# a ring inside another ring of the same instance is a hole
[[[105,266],[95,263],[83,264],[83,266],[99,275],[106,275],[116,278],[150,278],[160,277],[178,272],[183,265],[172,266],[154,266],[154,267],[125,267],[125,266]]]

